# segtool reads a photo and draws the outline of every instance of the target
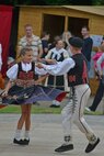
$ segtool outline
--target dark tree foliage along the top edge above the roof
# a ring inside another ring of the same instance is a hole
[[[0,4],[27,4],[27,5],[102,5],[104,0],[0,0]]]

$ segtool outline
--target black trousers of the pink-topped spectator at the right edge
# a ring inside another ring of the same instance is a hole
[[[94,101],[92,103],[90,108],[91,111],[95,111],[97,105],[100,104],[102,98],[103,98],[103,94],[104,94],[104,81],[103,80],[100,80],[100,85],[99,85],[99,88],[96,90],[96,94],[94,97]]]

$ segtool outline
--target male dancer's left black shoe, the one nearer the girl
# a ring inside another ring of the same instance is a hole
[[[55,152],[57,153],[63,153],[63,152],[67,152],[67,151],[72,151],[73,149],[73,144],[69,144],[69,145],[61,145],[60,147],[56,148]]]

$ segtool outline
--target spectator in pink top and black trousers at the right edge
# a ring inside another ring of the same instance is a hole
[[[103,44],[100,46],[100,52],[97,52],[94,55],[93,59],[95,65],[94,66],[95,71],[97,73],[97,76],[100,79],[100,83],[99,83],[99,88],[96,90],[92,105],[90,105],[89,108],[85,108],[85,110],[89,112],[91,111],[94,112],[96,110],[104,94],[104,45]]]

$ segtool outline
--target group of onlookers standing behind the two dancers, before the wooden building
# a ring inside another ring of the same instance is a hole
[[[88,73],[89,78],[92,78],[95,76],[94,73],[94,60],[92,59],[92,56],[95,54],[93,52],[93,41],[90,36],[90,30],[89,27],[82,26],[81,29],[81,36],[83,38],[83,46],[82,46],[82,54],[85,56],[88,60]],[[34,58],[33,62],[45,62],[45,59],[48,60],[48,64],[54,64],[54,62],[62,62],[63,59],[71,57],[70,52],[70,44],[69,38],[72,37],[73,34],[71,34],[70,31],[65,31],[60,35],[54,36],[54,41],[50,42],[51,34],[48,32],[43,32],[42,36],[36,36],[33,34],[33,27],[31,24],[26,24],[24,26],[24,36],[19,40],[18,43],[18,52],[16,52],[16,58],[9,57],[8,58],[8,68],[10,68],[15,62],[21,60],[20,58],[20,51],[23,47],[31,47],[34,52]],[[103,38],[102,43],[103,44]],[[97,47],[99,51],[99,47]],[[0,68],[2,66],[2,59],[0,57]],[[65,76],[48,76],[48,78],[45,79],[43,82],[44,86],[50,86],[54,88],[59,88],[61,90],[65,90],[69,92],[68,81],[67,81],[67,75]],[[50,107],[60,107],[59,101],[53,101]]]

